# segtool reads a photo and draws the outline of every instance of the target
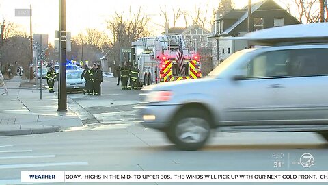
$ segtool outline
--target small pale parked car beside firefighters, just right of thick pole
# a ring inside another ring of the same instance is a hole
[[[83,92],[85,79],[81,79],[82,71],[66,71],[66,90],[74,92]]]

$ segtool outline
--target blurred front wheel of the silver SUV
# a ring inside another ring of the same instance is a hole
[[[182,150],[197,150],[210,136],[210,121],[204,110],[187,109],[179,112],[167,137]]]

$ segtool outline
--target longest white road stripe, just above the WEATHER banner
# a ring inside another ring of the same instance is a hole
[[[6,164],[0,165],[0,169],[22,169],[33,167],[55,167],[55,166],[87,166],[87,162],[57,162],[57,163],[39,163],[39,164]]]

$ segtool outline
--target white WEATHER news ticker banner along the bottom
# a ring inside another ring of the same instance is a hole
[[[328,182],[328,171],[21,171],[21,182]]]

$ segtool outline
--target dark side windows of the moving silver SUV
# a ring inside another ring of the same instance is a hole
[[[328,75],[328,49],[262,53],[241,69],[245,78]]]

